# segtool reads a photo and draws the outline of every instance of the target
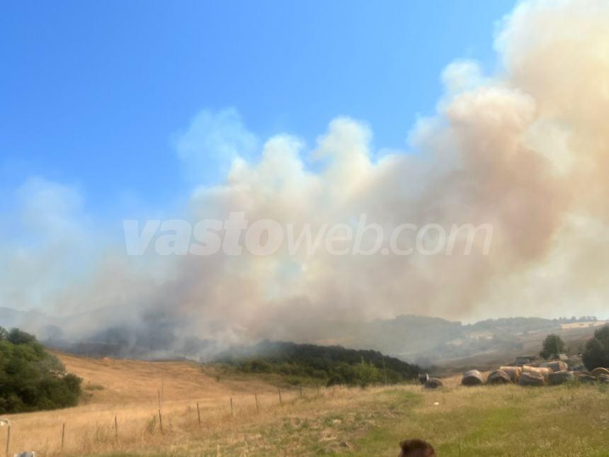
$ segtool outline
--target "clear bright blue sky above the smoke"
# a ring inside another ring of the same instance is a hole
[[[514,1],[4,1],[0,191],[31,176],[76,186],[92,213],[163,206],[192,180],[176,137],[234,108],[261,140],[308,145],[336,115],[403,148],[455,58],[495,66]],[[222,179],[214,160],[204,181]]]

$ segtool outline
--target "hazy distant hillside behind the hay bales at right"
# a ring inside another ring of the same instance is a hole
[[[391,320],[325,325],[323,337],[315,342],[375,349],[421,366],[468,366],[475,361],[491,366],[523,352],[536,354],[549,333],[561,335],[571,351],[579,351],[593,327],[603,322],[593,316],[510,317],[463,325],[438,317],[402,315]]]

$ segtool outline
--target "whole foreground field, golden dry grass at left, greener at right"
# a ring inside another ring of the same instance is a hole
[[[60,358],[89,400],[9,416],[11,452],[59,455],[65,423],[67,456],[394,456],[412,436],[439,456],[609,456],[609,391],[598,385],[464,388],[455,377],[431,391],[282,389],[280,404],[263,379],[218,379],[193,363]]]

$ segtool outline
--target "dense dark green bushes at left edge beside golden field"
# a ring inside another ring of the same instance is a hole
[[[81,378],[19,329],[0,327],[0,414],[74,406]]]

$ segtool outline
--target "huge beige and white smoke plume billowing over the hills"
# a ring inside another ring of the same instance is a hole
[[[387,233],[404,223],[487,224],[493,228],[488,255],[478,239],[472,253],[463,254],[460,239],[452,255],[337,256],[282,248],[266,256],[246,250],[159,256],[151,247],[130,257],[118,239],[91,243],[86,225],[60,224],[86,220],[81,203],[68,195],[72,203],[57,203],[68,215],[49,223],[62,233],[69,227],[72,244],[58,235],[45,241],[48,252],[61,247],[68,261],[73,252],[95,266],[76,269],[79,281],[49,289],[56,266],[24,265],[23,249],[5,246],[4,268],[32,273],[30,283],[20,284],[30,288],[27,296],[15,292],[7,274],[0,298],[6,306],[44,303],[59,313],[113,307],[94,320],[71,320],[63,331],[79,339],[133,329],[136,339],[155,335],[149,346],[159,351],[182,347],[188,337],[223,344],[306,341],[317,336],[315,322],[402,314],[606,317],[608,23],[603,0],[519,4],[499,26],[497,69],[486,74],[473,61],[449,64],[436,115],[404,132],[404,151],[377,149],[370,126],[348,117],[331,120],[312,148],[282,134],[263,142],[259,154],[256,135],[234,111],[200,115],[179,135],[178,157],[189,179],[195,179],[198,152],[215,149],[218,166],[227,167],[224,182],[196,186],[183,204],[179,217],[193,225],[229,220],[235,212],[250,222],[293,225],[296,233],[353,226],[361,215]],[[62,198],[60,191],[53,195]],[[147,218],[176,212],[126,218],[139,219],[141,230]],[[89,232],[103,238],[99,231]],[[408,242],[399,239],[402,246]]]

